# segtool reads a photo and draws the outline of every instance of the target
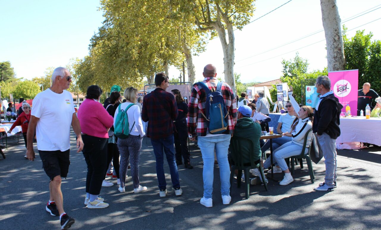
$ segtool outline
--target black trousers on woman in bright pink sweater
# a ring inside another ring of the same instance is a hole
[[[109,138],[82,135],[83,156],[87,164],[86,193],[99,195],[107,171],[107,142]]]

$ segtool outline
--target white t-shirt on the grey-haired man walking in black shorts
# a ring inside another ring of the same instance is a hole
[[[38,150],[66,151],[70,148],[73,113],[73,97],[66,90],[54,93],[48,88],[37,94],[30,114],[40,118],[36,127]]]

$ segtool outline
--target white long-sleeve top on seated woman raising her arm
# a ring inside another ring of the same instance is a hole
[[[296,102],[295,98],[292,95],[292,91],[288,92],[288,97],[290,98],[290,102],[292,107],[294,108],[295,112],[298,113],[300,110],[299,104]],[[298,124],[296,125],[295,129],[292,130],[291,135],[291,141],[296,145],[303,146],[304,143],[304,136],[306,135],[307,131],[312,129],[312,121],[309,117],[306,117],[304,119],[300,119],[298,121]],[[306,147],[308,148],[311,144],[312,139],[312,132],[308,134]]]

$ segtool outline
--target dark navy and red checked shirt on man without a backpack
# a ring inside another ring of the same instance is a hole
[[[148,121],[147,137],[165,138],[173,134],[179,112],[172,93],[156,88],[143,99],[142,120]]]

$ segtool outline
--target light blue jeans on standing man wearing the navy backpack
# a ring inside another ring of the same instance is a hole
[[[201,150],[203,167],[203,180],[204,180],[204,197],[212,198],[213,192],[213,170],[214,170],[214,151],[219,167],[219,176],[221,179],[221,194],[229,196],[230,193],[230,167],[227,161],[227,150],[230,144],[230,134],[220,135],[216,137],[199,137],[198,145]]]

